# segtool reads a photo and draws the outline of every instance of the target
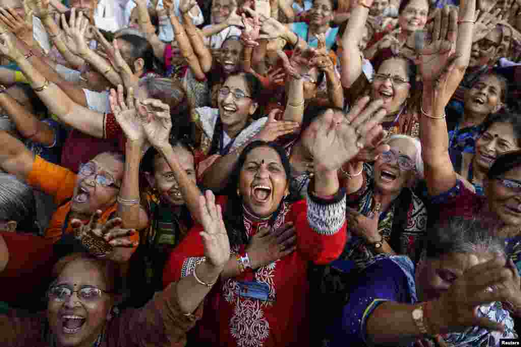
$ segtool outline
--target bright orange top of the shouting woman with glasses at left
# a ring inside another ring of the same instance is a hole
[[[59,165],[49,163],[38,155],[34,159],[34,164],[29,173],[29,177],[27,178],[27,183],[34,188],[38,188],[41,191],[52,195],[54,197],[54,202],[57,205],[61,205],[54,212],[53,218],[45,230],[44,237],[46,239],[53,239],[54,242],[56,242],[61,237],[61,230],[63,229],[65,219],[67,218],[72,203],[72,201],[66,201],[67,199],[70,200],[72,197],[76,185],[76,177],[76,173]],[[115,214],[117,208],[118,204],[116,203],[110,208],[104,210],[100,222],[106,222]],[[88,223],[89,220],[82,220],[82,222]],[[65,229],[65,232],[69,233],[71,231],[72,228],[69,221],[69,225],[67,226],[67,229]],[[135,233],[129,237],[129,240],[139,242],[139,233]]]

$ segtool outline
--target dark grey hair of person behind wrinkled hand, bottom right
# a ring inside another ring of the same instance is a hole
[[[439,258],[449,253],[498,253],[505,247],[498,237],[498,222],[492,218],[451,217],[427,227],[422,258]]]

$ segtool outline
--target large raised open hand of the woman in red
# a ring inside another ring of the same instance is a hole
[[[328,110],[309,126],[311,136],[304,146],[313,155],[315,171],[336,171],[352,160],[362,148],[381,138],[380,122],[386,115],[383,101],[363,97],[346,117],[335,117]]]

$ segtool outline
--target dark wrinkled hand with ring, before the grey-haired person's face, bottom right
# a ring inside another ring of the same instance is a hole
[[[513,274],[511,269],[505,268],[504,256],[496,256],[482,264],[477,264],[476,259],[439,299],[431,302],[429,325],[442,334],[475,326],[503,331],[502,324],[478,317],[477,306],[515,300],[504,288],[509,281],[513,281]]]

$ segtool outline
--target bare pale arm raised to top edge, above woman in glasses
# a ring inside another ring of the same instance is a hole
[[[342,85],[344,88],[350,88],[362,73],[363,54],[358,48],[358,44],[362,41],[364,26],[369,16],[369,8],[373,4],[373,0],[365,0],[358,2],[351,10],[351,19],[345,28],[342,36],[342,54],[340,55],[340,63],[342,72],[340,74]]]

